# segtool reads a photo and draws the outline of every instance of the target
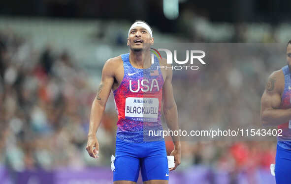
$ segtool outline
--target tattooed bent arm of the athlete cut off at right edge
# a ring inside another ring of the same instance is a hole
[[[291,109],[278,109],[283,91],[284,74],[282,70],[273,72],[261,97],[260,118],[263,125],[278,126],[291,119]]]

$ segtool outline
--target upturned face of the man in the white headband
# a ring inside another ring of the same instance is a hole
[[[128,46],[130,50],[142,51],[148,50],[150,45],[154,44],[154,38],[143,27],[133,27],[129,32]]]

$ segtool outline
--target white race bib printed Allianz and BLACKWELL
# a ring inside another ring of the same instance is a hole
[[[132,121],[158,121],[159,99],[128,97],[125,101],[125,118]]]

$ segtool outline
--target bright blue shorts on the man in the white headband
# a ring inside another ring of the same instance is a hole
[[[142,181],[169,180],[164,141],[133,143],[116,137],[113,181],[137,182],[139,170]]]

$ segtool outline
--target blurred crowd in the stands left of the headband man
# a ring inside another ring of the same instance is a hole
[[[85,153],[96,92],[70,54],[35,50],[12,31],[0,32],[0,44],[0,162],[17,171],[97,164]]]

